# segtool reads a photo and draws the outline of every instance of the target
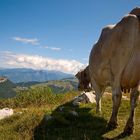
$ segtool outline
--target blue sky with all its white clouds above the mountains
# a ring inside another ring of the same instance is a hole
[[[138,6],[139,0],[0,0],[1,67],[75,73],[102,28]]]

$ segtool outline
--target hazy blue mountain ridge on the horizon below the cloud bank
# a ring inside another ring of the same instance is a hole
[[[66,74],[59,71],[33,70],[26,68],[1,68],[0,76],[7,77],[14,83],[30,81],[45,82],[74,77],[72,74]]]

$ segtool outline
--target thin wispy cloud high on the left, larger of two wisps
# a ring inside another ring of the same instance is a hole
[[[13,37],[15,41],[22,42],[25,44],[39,45],[39,40],[37,38],[22,38],[22,37]]]

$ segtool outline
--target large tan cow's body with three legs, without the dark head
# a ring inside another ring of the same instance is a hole
[[[140,8],[134,8],[116,25],[105,27],[89,56],[89,77],[96,93],[96,112],[101,111],[101,97],[112,87],[113,108],[109,129],[117,127],[122,89],[132,89],[130,115],[123,134],[133,133],[134,110],[140,92]]]

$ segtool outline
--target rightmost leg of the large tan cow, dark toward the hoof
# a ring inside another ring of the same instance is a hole
[[[124,135],[130,135],[133,133],[134,129],[134,112],[135,112],[135,107],[137,106],[137,99],[139,97],[139,91],[137,88],[132,89],[131,91],[131,96],[130,96],[130,105],[131,105],[131,110],[130,110],[130,115],[128,118],[128,121],[126,123],[126,126],[124,128]]]

